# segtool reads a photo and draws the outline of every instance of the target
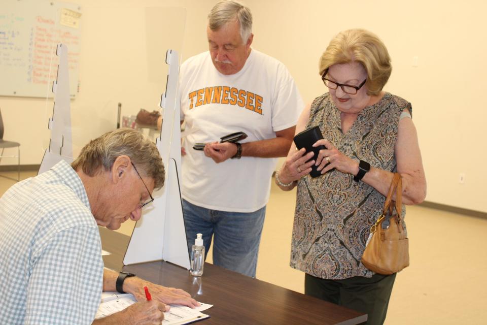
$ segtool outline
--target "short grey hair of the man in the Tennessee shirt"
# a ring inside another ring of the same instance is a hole
[[[243,44],[247,43],[252,34],[252,13],[248,7],[237,1],[223,0],[217,3],[208,14],[208,25],[213,31],[234,20],[240,24],[240,37]]]

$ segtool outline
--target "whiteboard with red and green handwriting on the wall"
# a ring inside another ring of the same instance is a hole
[[[81,8],[45,0],[2,0],[0,95],[52,97],[58,43],[67,45],[69,95],[78,92]]]

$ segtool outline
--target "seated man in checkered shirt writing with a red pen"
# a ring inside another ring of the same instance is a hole
[[[152,324],[165,304],[198,305],[181,289],[129,277],[122,289],[140,302],[94,321],[101,291],[115,291],[118,276],[103,269],[97,225],[115,230],[140,219],[163,184],[156,146],[122,128],[92,140],[71,166],[60,161],[12,186],[0,199],[1,322]]]

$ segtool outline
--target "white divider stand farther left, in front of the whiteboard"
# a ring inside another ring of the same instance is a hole
[[[52,84],[54,108],[48,124],[48,128],[51,130],[51,140],[49,148],[44,152],[38,175],[48,171],[61,160],[65,160],[68,164],[73,162],[67,46],[58,44],[56,55],[59,56],[59,65],[56,81]]]

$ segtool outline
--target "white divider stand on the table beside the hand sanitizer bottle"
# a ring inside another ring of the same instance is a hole
[[[133,229],[123,264],[164,260],[189,270],[189,252],[184,228],[179,174],[181,171],[181,123],[178,99],[178,52],[167,50],[169,64],[161,134],[156,146],[161,154],[166,176],[164,186],[154,192],[154,202],[143,211]]]

